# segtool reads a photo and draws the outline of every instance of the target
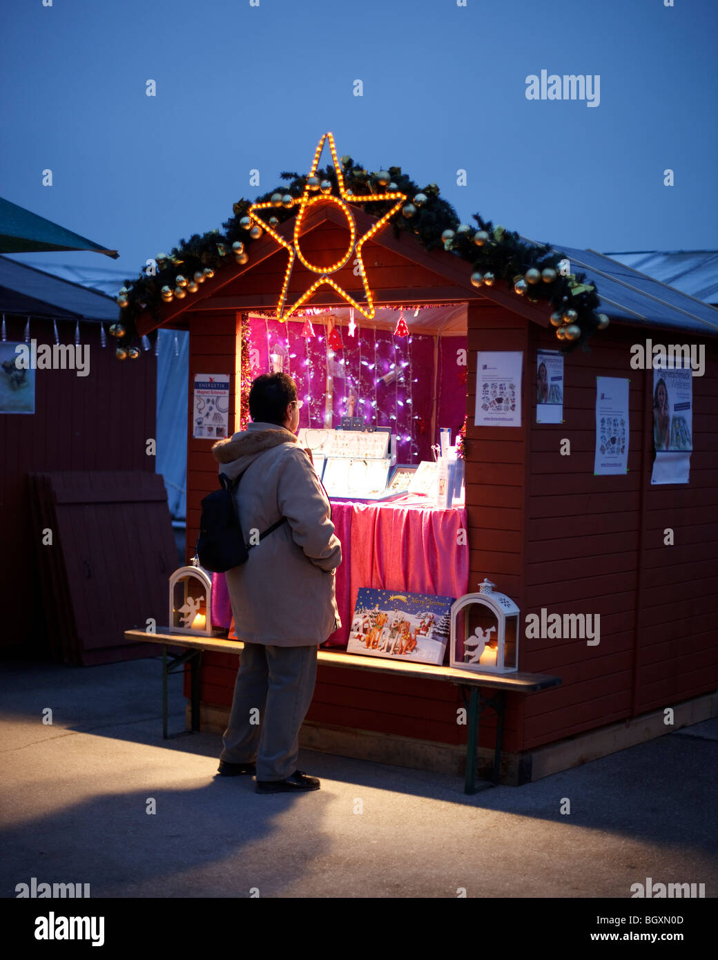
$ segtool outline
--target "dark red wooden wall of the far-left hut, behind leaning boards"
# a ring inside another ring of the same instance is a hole
[[[8,339],[23,339],[25,318],[7,317]],[[118,361],[103,348],[99,324],[80,324],[89,345],[89,374],[36,371],[35,414],[0,414],[0,647],[33,643],[47,650],[27,474],[45,470],[155,470],[146,440],[155,436],[156,357],[142,350]],[[73,343],[75,324],[58,322],[60,343]],[[50,321],[34,319],[31,337],[54,344]]]

